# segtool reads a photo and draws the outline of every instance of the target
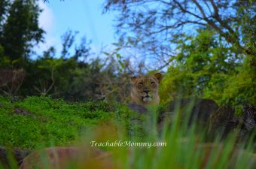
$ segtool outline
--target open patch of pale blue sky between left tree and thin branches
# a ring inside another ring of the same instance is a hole
[[[76,44],[86,36],[91,40],[90,47],[93,53],[99,52],[102,47],[114,43],[114,14],[102,14],[105,0],[49,0],[39,1],[43,10],[39,17],[39,26],[44,29],[44,44],[35,47],[37,53],[42,53],[49,47],[56,48],[60,53],[61,36],[68,30],[78,31]]]

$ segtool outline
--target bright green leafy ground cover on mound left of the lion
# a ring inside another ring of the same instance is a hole
[[[16,109],[26,110],[26,114]],[[66,103],[49,97],[29,97],[11,102],[0,98],[0,144],[35,149],[40,146],[67,146],[79,140],[86,130],[116,119],[130,133],[133,112],[120,104],[105,101]],[[139,117],[138,117],[139,118]],[[42,144],[43,143],[43,144]]]

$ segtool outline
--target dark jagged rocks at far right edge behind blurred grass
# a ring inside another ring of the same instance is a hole
[[[247,142],[256,130],[256,107],[245,104],[240,118],[234,116],[232,107],[220,107],[212,114],[209,123],[208,140],[214,140],[218,135],[224,139],[230,133],[237,133],[236,142]],[[255,135],[253,137],[255,142]]]

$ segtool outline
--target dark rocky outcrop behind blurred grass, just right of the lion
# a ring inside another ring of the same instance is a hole
[[[128,107],[140,114],[148,113],[147,107],[141,105],[129,104]],[[182,98],[160,106],[157,118],[158,131],[163,129],[164,122],[171,123],[176,113],[180,116],[181,122],[186,122],[188,126],[195,122],[199,128],[206,129],[209,141],[215,140],[215,137],[224,139],[234,132],[237,133],[237,141],[247,141],[256,131],[256,107],[253,105],[245,104],[242,117],[236,117],[233,107],[218,107],[215,101],[201,98]],[[256,141],[255,134],[252,137]]]

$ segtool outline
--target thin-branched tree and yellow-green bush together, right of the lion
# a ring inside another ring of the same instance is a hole
[[[118,14],[113,54],[136,51],[136,61],[150,56],[149,71],[168,70],[162,102],[196,96],[233,107],[256,103],[254,7],[253,1],[105,2],[105,11]]]

